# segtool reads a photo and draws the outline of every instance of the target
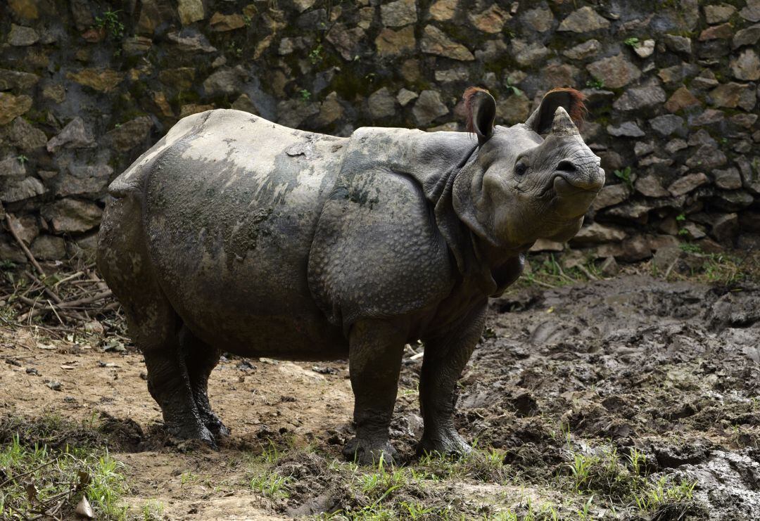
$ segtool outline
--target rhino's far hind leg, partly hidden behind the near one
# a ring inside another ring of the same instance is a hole
[[[187,326],[182,326],[182,329],[179,330],[179,343],[182,345],[182,352],[185,353],[185,366],[190,379],[195,408],[198,409],[201,422],[211,431],[211,434],[214,434],[214,437],[229,436],[230,430],[211,410],[211,404],[208,403],[208,377],[219,363],[220,350],[204,343]]]

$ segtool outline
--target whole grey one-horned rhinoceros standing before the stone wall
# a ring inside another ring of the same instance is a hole
[[[456,382],[488,298],[538,238],[578,232],[603,186],[577,90],[494,126],[470,87],[467,132],[359,128],[333,137],[217,109],[179,121],[109,185],[97,265],[144,354],[169,433],[214,444],[221,352],[348,358],[360,463],[394,457],[404,345],[421,339],[420,450],[470,450]]]

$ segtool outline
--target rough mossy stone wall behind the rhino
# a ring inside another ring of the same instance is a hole
[[[760,0],[4,0],[0,216],[42,259],[91,251],[109,180],[214,107],[339,135],[462,130],[471,84],[502,124],[567,85],[588,96],[608,182],[574,248],[750,248],[758,22]],[[0,258],[24,260],[6,229]]]

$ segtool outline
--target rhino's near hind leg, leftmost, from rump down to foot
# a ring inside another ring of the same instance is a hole
[[[138,197],[127,194],[106,207],[97,266],[122,304],[131,337],[145,357],[147,387],[161,408],[166,430],[214,444],[192,396],[177,334],[182,322],[153,274]]]

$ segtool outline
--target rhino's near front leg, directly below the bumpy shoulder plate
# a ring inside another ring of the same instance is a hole
[[[397,456],[388,440],[398,374],[404,352],[404,334],[382,320],[353,324],[349,339],[349,371],[354,394],[356,437],[343,453],[363,465],[386,463]]]

